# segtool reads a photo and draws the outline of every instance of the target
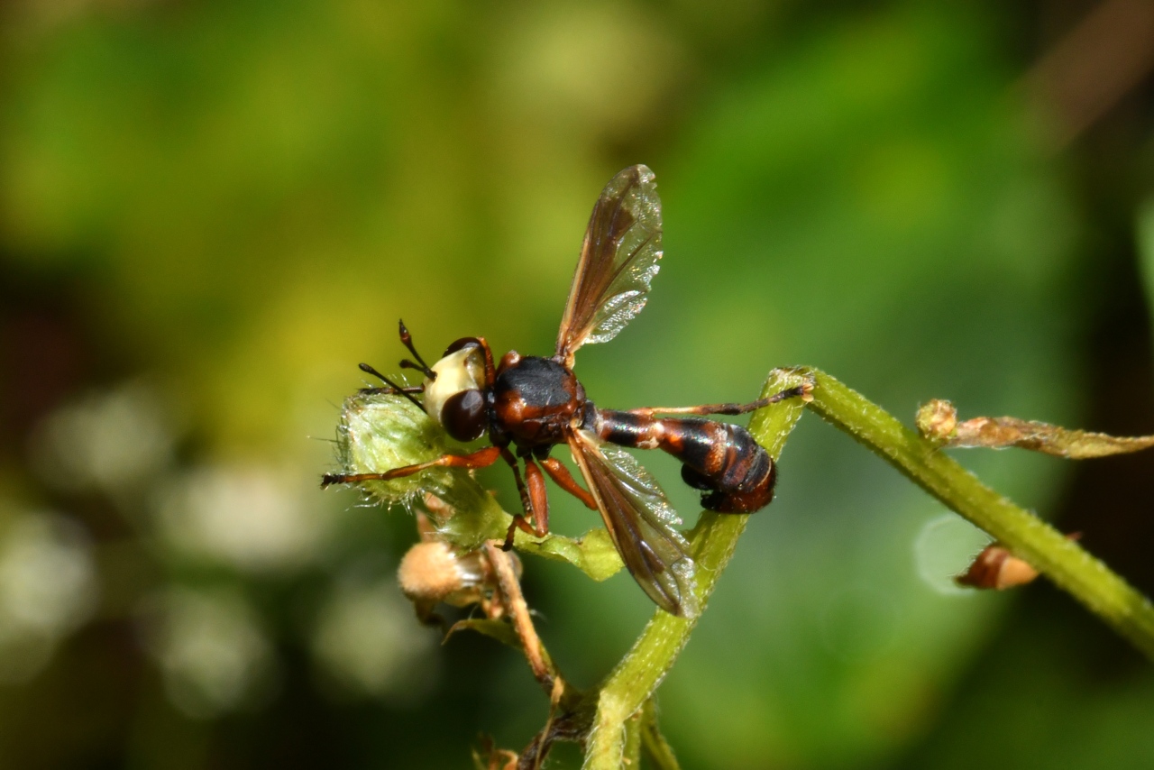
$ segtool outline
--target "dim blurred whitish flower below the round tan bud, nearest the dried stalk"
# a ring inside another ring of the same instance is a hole
[[[417,621],[392,576],[337,585],[316,620],[313,652],[346,690],[412,703],[436,676],[436,635]]]

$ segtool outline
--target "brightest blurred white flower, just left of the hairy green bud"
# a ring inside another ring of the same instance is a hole
[[[160,534],[179,551],[247,571],[292,569],[316,555],[327,531],[321,506],[307,506],[299,473],[216,466],[186,473],[164,495]]]

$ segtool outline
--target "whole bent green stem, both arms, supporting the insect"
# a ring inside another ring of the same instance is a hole
[[[774,369],[762,395],[772,395],[802,382],[814,384],[811,410],[997,538],[1154,658],[1154,606],[1106,565],[983,485],[937,446],[824,372],[805,367]],[[750,420],[750,432],[774,461],[800,412],[800,399],[789,399],[758,411]],[[690,534],[703,612],[745,529],[747,518],[706,511]],[[583,770],[622,768],[627,723],[652,697],[689,641],[695,625],[696,620],[657,612],[600,690],[591,695],[597,700],[597,711],[587,737]]]

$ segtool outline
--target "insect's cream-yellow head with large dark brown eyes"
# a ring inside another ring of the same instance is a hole
[[[449,349],[425,379],[425,411],[458,441],[485,433],[485,358],[480,345]]]

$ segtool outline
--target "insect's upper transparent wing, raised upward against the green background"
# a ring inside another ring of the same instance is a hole
[[[578,347],[613,339],[642,312],[660,259],[661,200],[653,172],[629,166],[605,186],[589,219],[557,334],[557,356],[568,366]]]

